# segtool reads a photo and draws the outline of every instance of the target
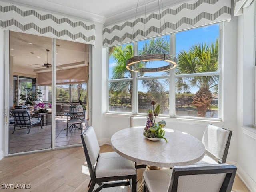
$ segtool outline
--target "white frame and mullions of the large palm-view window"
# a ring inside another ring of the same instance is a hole
[[[223,94],[223,86],[222,86],[222,76],[223,76],[223,70],[222,70],[222,63],[223,63],[223,36],[224,36],[224,22],[218,22],[219,24],[219,53],[218,53],[218,70],[216,72],[204,72],[204,73],[196,73],[196,74],[176,74],[175,70],[170,70],[169,76],[152,76],[152,77],[140,77],[138,78],[138,75],[136,72],[133,72],[132,78],[122,78],[122,79],[109,79],[109,49],[107,50],[107,102],[106,102],[106,114],[130,114],[130,115],[147,115],[146,113],[138,113],[138,80],[141,79],[166,79],[169,78],[169,90],[175,90],[175,92],[169,91],[169,105],[175,106],[175,100],[176,100],[176,78],[178,77],[194,77],[194,76],[218,76],[218,118],[206,118],[206,117],[193,117],[193,116],[177,116],[175,107],[169,108],[169,114],[159,114],[159,117],[169,117],[169,118],[179,118],[179,119],[192,119],[192,120],[210,120],[210,121],[223,121],[223,107],[222,107],[222,94]],[[209,24],[213,25],[213,24]],[[204,27],[204,26],[200,26]],[[197,27],[199,28],[199,27]],[[188,29],[188,30],[191,30]],[[170,36],[170,54],[176,55],[176,33],[168,34]],[[131,42],[133,44],[133,50],[134,50],[134,56],[138,55],[138,42]],[[256,69],[255,69],[256,70]],[[121,82],[121,81],[133,81],[133,95],[132,95],[132,112],[116,112],[116,111],[110,111],[109,110],[109,83],[110,82]],[[256,77],[255,77],[255,84],[256,84]],[[256,91],[255,91],[256,95]],[[255,96],[256,98],[256,96]],[[255,99],[256,100],[256,99]],[[256,103],[256,101],[255,101]],[[256,114],[256,104],[255,106],[255,114]],[[256,124],[256,116],[254,124]],[[255,125],[256,126],[256,125]]]

